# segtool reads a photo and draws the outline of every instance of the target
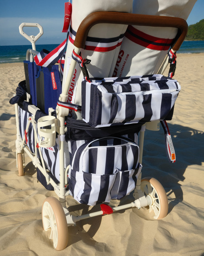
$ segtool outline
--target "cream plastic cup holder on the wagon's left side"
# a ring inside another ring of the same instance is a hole
[[[37,131],[40,136],[38,145],[42,148],[55,146],[56,118],[45,116],[38,119]]]

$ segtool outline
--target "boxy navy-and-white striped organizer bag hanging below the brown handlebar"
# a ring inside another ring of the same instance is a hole
[[[92,127],[163,120],[181,89],[159,74],[82,81],[82,118]]]

